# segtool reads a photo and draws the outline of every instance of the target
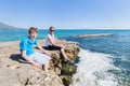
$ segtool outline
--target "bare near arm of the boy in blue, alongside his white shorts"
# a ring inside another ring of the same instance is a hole
[[[27,57],[27,55],[26,55],[26,51],[22,51],[22,57],[25,59],[25,60],[27,60],[27,61],[29,61],[31,64],[34,64],[35,67],[37,67],[37,68],[40,68],[40,63],[38,63],[38,62],[35,62],[32,59],[30,59],[29,57]]]

